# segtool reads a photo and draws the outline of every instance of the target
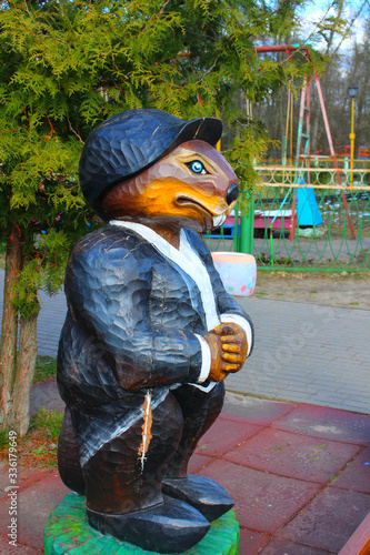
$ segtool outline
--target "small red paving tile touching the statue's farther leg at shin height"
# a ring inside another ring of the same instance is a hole
[[[260,430],[262,430],[261,426],[220,416],[200,440],[196,453],[200,455],[221,455],[244,442]]]

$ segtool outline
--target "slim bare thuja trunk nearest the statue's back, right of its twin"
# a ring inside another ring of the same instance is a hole
[[[9,424],[19,435],[26,435],[30,424],[30,396],[34,374],[37,345],[37,319],[39,311],[20,320],[19,353],[12,391],[12,412]]]

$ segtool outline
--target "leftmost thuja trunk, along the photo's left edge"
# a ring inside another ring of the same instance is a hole
[[[0,345],[0,424],[8,427],[17,371],[18,311],[12,305],[13,286],[22,263],[22,244],[16,225],[8,236]]]

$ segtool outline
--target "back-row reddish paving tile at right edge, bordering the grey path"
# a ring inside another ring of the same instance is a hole
[[[313,437],[370,444],[370,416],[326,406],[299,405],[272,426]]]

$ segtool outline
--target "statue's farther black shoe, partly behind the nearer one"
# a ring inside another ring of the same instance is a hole
[[[230,511],[233,501],[219,484],[203,476],[163,478],[162,492],[197,508],[209,522]]]

